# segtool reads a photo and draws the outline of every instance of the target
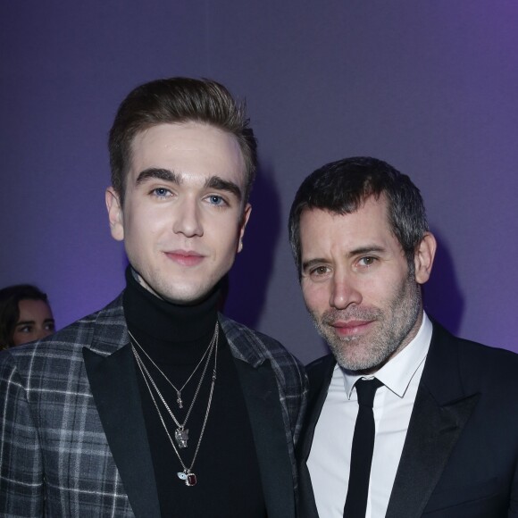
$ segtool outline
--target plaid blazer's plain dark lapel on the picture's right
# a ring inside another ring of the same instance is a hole
[[[254,367],[235,359],[255,441],[263,493],[270,518],[295,516],[293,474],[279,388],[269,361]]]

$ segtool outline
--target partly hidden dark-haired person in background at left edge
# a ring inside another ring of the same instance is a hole
[[[45,338],[54,330],[46,293],[31,284],[0,289],[0,349]]]

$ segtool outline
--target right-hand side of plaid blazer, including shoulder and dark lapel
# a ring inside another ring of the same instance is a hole
[[[305,412],[304,367],[279,342],[220,315],[252,426],[268,516],[295,516],[294,443]]]

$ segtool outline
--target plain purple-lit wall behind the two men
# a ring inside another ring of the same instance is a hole
[[[0,286],[35,282],[60,327],[123,287],[106,135],[141,82],[246,96],[261,171],[227,313],[303,361],[324,352],[288,248],[309,172],[372,155],[422,189],[439,255],[430,313],[518,351],[518,4],[474,0],[0,3]]]

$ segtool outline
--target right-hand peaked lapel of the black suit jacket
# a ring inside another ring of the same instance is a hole
[[[478,398],[464,393],[455,338],[434,323],[387,518],[422,515]]]

